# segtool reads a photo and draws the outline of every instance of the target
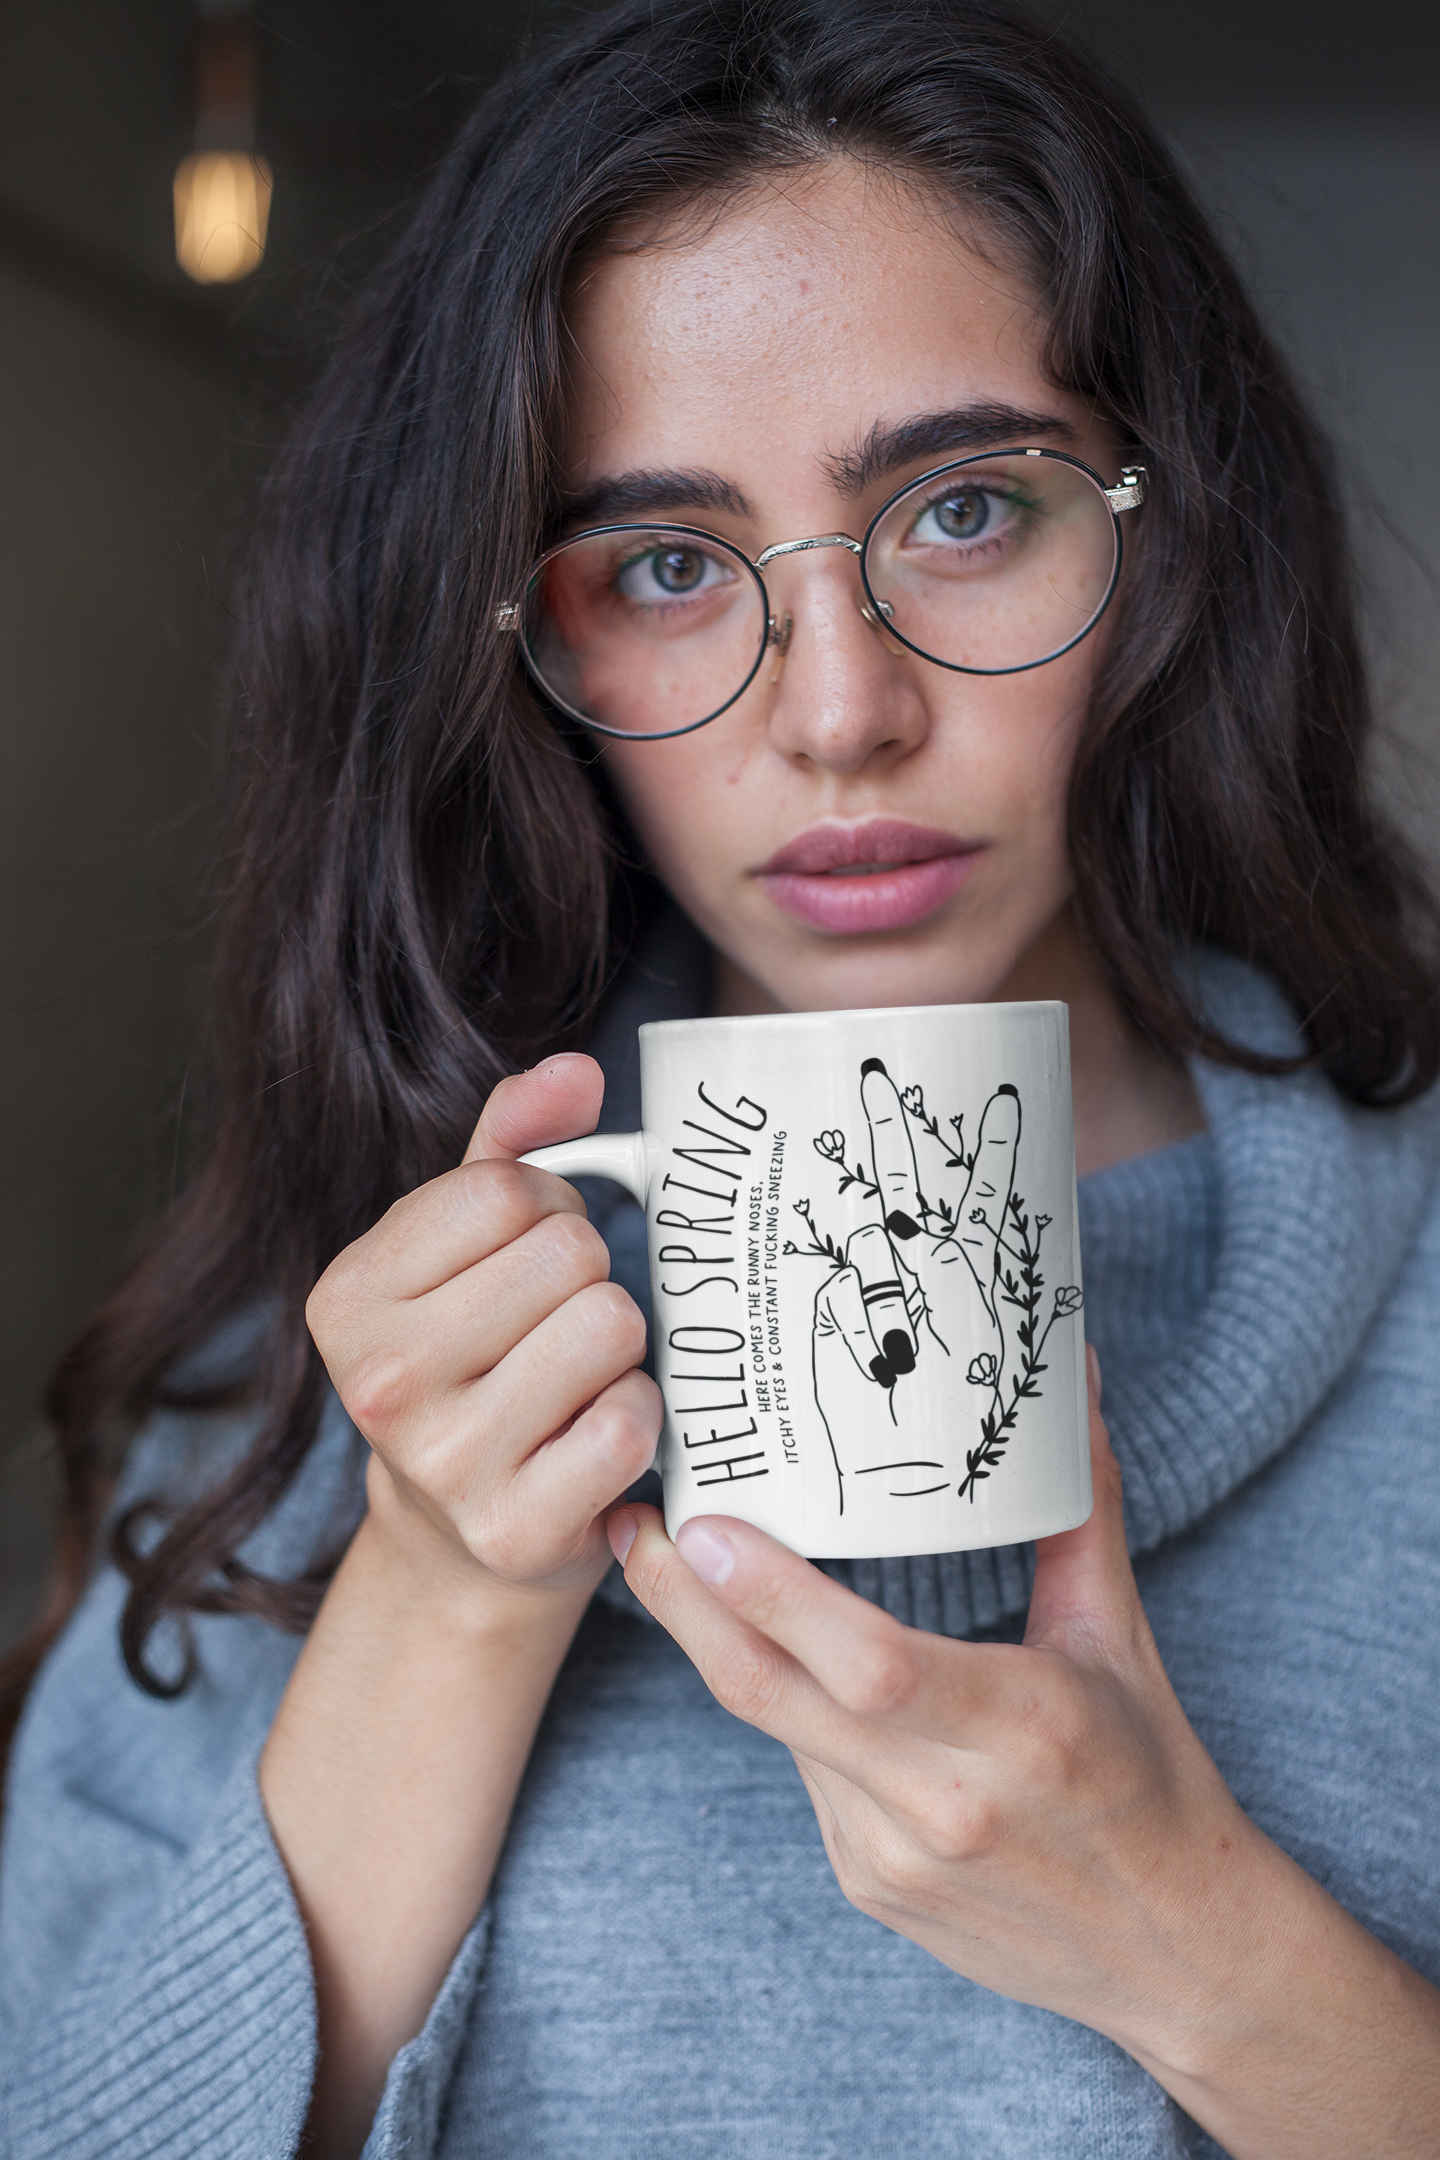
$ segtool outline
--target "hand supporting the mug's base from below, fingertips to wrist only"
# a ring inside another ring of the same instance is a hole
[[[1090,1521],[1036,1549],[1023,1646],[907,1629],[749,1525],[650,1510],[626,1579],[715,1696],[784,1739],[840,1886],[967,1979],[1108,2030],[1138,2022],[1174,1884],[1239,1866],[1246,1819],[1159,1663],[1095,1419]],[[699,1581],[695,1579],[699,1577]],[[702,1588],[708,1585],[708,1588]]]

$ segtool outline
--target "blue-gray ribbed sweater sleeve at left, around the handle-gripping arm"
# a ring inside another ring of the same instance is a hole
[[[0,2160],[289,2160],[315,1989],[257,1763],[298,1655],[201,1618],[173,1702],[119,1657],[106,1570],[15,1741],[0,1858]],[[486,1922],[391,2065],[367,2160],[430,2160]]]

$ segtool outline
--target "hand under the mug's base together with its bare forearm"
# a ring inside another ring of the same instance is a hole
[[[1095,1514],[1023,1646],[924,1635],[762,1531],[611,1516],[717,1700],[794,1752],[844,1894],[1116,2039],[1228,2151],[1434,2154],[1440,1996],[1241,1812],[1159,1661],[1090,1352]]]

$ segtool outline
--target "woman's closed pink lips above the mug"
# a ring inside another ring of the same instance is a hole
[[[902,819],[812,825],[753,873],[788,916],[859,937],[900,931],[935,914],[969,875],[982,847]]]

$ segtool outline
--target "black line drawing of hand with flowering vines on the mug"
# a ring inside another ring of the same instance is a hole
[[[823,1132],[816,1151],[840,1171],[840,1192],[861,1186],[874,1216],[844,1248],[816,1223],[807,1201],[797,1214],[810,1244],[790,1255],[827,1259],[831,1274],[814,1300],[814,1391],[829,1434],[844,1514],[846,1480],[874,1482],[894,1499],[922,1499],[954,1484],[972,1497],[1015,1436],[1019,1406],[1038,1398],[1041,1352],[1056,1320],[1079,1309],[1079,1290],[1054,1294],[1041,1328],[1045,1277],[1041,1240],[1049,1216],[1030,1216],[1015,1192],[1021,1138],[1019,1093],[1004,1084],[984,1104],[974,1147],[965,1121],[946,1138],[920,1086],[900,1091],[881,1058],[861,1065],[859,1097],[870,1166],[851,1164],[842,1132]],[[959,1173],[954,1203],[920,1175],[915,1138],[937,1177]],[[943,1166],[941,1166],[943,1164]],[[926,1197],[928,1190],[935,1199]],[[959,1475],[954,1434],[924,1417],[935,1391],[907,1387],[935,1359],[965,1359],[978,1391],[980,1436]],[[948,1443],[948,1445],[946,1445]]]

